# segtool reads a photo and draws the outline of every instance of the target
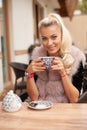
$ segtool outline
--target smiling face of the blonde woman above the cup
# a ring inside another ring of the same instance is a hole
[[[50,56],[58,56],[62,43],[62,31],[57,24],[42,26],[40,35],[43,47]]]

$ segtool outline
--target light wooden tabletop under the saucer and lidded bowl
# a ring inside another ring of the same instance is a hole
[[[32,110],[26,102],[13,113],[0,102],[0,130],[87,130],[87,104],[53,104],[47,110]]]

